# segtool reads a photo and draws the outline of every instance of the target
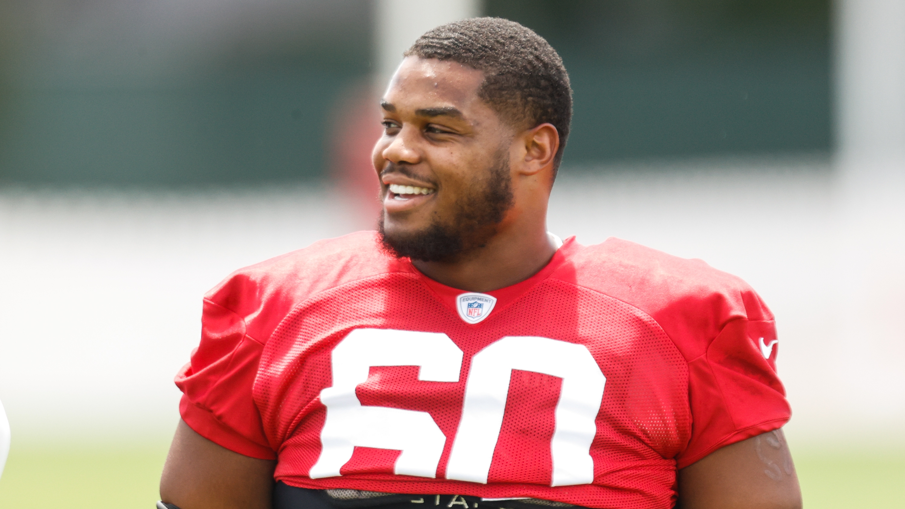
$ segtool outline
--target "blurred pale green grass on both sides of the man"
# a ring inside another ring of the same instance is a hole
[[[13,445],[0,507],[152,509],[166,441],[141,446]],[[808,509],[905,508],[905,449],[795,454]]]

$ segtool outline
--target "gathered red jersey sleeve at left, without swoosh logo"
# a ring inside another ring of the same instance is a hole
[[[274,459],[252,398],[263,344],[246,333],[243,316],[205,298],[201,343],[176,375],[182,419],[239,454]]]

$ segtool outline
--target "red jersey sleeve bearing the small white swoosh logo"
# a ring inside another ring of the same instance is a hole
[[[776,375],[776,326],[769,318],[730,320],[706,352],[689,362],[691,439],[677,457],[679,468],[779,429],[791,417]]]

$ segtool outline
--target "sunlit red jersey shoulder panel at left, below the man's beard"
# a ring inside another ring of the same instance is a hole
[[[308,297],[397,270],[405,270],[402,262],[380,249],[376,231],[357,231],[238,269],[212,288],[205,301],[242,317],[249,335],[265,341],[282,317]]]

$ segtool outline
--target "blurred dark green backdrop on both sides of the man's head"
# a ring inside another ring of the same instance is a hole
[[[330,112],[370,72],[371,2],[202,4],[0,3],[0,184],[323,175],[329,133],[342,132]],[[537,30],[566,61],[567,165],[831,148],[828,0],[485,8]]]

